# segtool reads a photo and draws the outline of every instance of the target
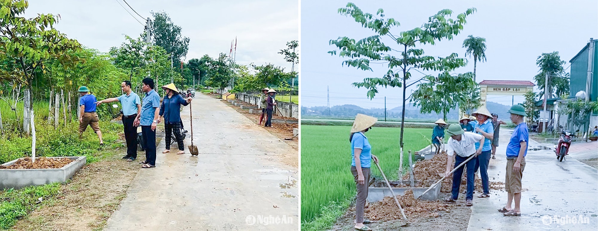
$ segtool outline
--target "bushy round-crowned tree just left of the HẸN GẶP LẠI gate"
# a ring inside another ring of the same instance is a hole
[[[463,98],[471,98],[471,95],[466,94],[477,88],[472,75],[471,72],[451,75],[446,71],[437,77],[429,75],[427,83],[417,85],[411,102],[414,102],[414,106],[420,106],[422,113],[442,113],[444,121],[447,121],[449,111],[456,108]]]

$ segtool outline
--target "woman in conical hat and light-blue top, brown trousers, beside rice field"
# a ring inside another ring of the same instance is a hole
[[[371,161],[378,162],[378,157],[371,154],[371,145],[365,132],[378,121],[377,118],[357,114],[353,127],[351,127],[351,173],[355,178],[357,188],[357,200],[355,202],[355,229],[371,230],[365,224],[371,223],[364,219],[365,199],[368,197],[368,186],[370,184]]]

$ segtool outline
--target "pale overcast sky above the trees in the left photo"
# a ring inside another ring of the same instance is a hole
[[[29,0],[26,17],[38,13],[60,14],[56,28],[81,44],[107,52],[124,42],[124,35],[136,38],[144,30],[150,11],[165,11],[181,26],[182,36],[190,38],[187,60],[204,54],[228,54],[237,37],[236,62],[247,65],[274,63],[290,71],[280,49],[299,38],[297,0],[270,1],[158,1],[125,0]],[[124,8],[143,24],[141,25]]]

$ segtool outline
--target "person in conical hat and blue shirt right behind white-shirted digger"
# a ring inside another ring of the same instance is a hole
[[[481,106],[471,116],[475,116],[475,121],[471,124],[474,126],[474,132],[483,135],[486,139],[482,146],[482,153],[478,155],[475,163],[474,172],[480,169],[480,178],[482,180],[482,188],[484,193],[480,196],[481,198],[490,196],[490,187],[488,183],[488,164],[490,163],[490,157],[492,156],[492,139],[494,138],[494,127],[492,126],[492,114],[486,109],[486,106]],[[490,119],[489,119],[490,118]],[[475,148],[479,148],[480,143],[475,143]]]

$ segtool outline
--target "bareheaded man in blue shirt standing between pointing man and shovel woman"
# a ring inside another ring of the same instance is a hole
[[[141,133],[145,142],[145,161],[141,168],[155,167],[155,127],[160,117],[160,96],[154,90],[154,80],[144,78],[141,90],[145,92],[144,101],[141,104],[141,113],[135,118],[135,125],[141,125]]]

